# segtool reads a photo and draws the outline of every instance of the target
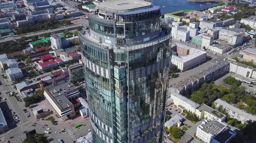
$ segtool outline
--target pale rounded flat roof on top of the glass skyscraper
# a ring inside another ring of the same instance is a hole
[[[112,10],[124,11],[151,6],[151,3],[142,0],[111,0],[99,3],[98,6]]]

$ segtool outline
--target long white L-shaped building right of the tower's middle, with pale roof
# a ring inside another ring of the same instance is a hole
[[[204,62],[206,59],[206,54],[206,52],[200,50],[183,57],[173,55],[172,64],[177,65],[178,69],[181,71],[185,71],[200,64],[201,62]]]

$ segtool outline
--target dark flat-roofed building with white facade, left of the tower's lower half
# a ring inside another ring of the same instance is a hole
[[[48,90],[44,89],[44,96],[54,112],[64,121],[76,115],[72,102],[79,97],[79,91],[74,84],[66,82]]]

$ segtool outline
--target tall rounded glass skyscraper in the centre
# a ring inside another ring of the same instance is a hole
[[[160,7],[112,0],[96,8],[79,32],[94,143],[161,143],[172,53]]]

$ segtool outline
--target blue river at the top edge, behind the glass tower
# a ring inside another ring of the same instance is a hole
[[[218,3],[211,2],[211,4],[207,4],[206,2],[188,2],[186,0],[151,0],[151,3],[154,4],[154,6],[160,6],[161,13],[162,14],[168,14],[173,11],[180,11],[180,10],[199,10],[202,8],[209,8],[211,6],[214,6]],[[203,6],[199,6],[203,5]],[[163,7],[165,6],[165,7]]]

